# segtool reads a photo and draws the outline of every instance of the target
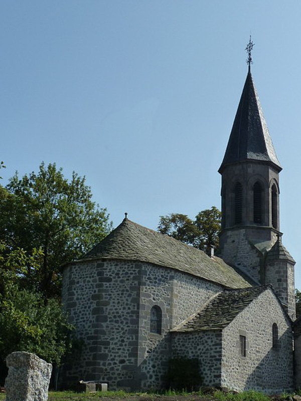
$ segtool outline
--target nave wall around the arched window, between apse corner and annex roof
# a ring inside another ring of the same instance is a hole
[[[168,360],[171,358],[169,330],[197,312],[222,288],[173,269],[141,264],[139,311],[139,348],[141,388],[164,385]],[[150,333],[150,309],[162,309],[162,334]]]

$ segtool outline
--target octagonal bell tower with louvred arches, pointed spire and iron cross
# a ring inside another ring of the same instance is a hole
[[[279,172],[270,134],[251,75],[248,73],[219,168],[222,176],[224,261],[248,276],[254,285],[272,284],[291,318],[295,318],[294,260],[283,247],[279,227]]]

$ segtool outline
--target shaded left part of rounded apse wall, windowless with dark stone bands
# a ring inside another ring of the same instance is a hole
[[[83,340],[81,355],[64,366],[61,382],[101,380],[136,387],[139,267],[87,261],[64,269],[62,301]]]

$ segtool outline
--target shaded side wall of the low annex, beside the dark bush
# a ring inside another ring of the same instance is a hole
[[[203,385],[221,385],[222,333],[172,333],[173,357],[198,358]]]

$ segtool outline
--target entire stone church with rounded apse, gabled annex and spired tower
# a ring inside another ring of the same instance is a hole
[[[279,231],[281,166],[250,63],[218,171],[220,257],[125,218],[64,266],[63,303],[83,340],[76,363],[64,365],[65,383],[160,388],[169,359],[185,356],[198,358],[206,386],[279,393],[301,384],[295,262]]]

